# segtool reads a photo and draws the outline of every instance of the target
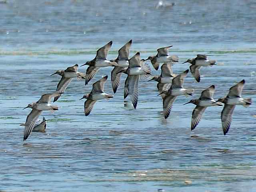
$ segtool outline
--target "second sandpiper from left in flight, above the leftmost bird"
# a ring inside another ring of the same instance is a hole
[[[60,82],[57,85],[57,89],[56,89],[56,91],[58,93],[64,93],[64,91],[68,87],[68,84],[70,84],[70,82],[72,81],[73,78],[76,77],[78,80],[86,78],[86,74],[80,73],[77,70],[78,70],[78,64],[68,67],[68,68],[66,68],[66,70],[58,70],[54,74],[51,74],[51,76],[55,75],[55,74],[62,76],[62,78],[60,79]],[[60,95],[54,97],[53,102],[56,102],[58,100],[58,98],[60,98]]]

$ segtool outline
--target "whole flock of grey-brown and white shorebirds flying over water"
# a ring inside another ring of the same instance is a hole
[[[62,77],[58,83],[56,92],[52,94],[44,94],[37,102],[28,104],[28,106],[25,107],[32,108],[32,111],[27,116],[26,123],[22,124],[25,126],[23,140],[25,141],[32,131],[44,132],[46,128],[46,120],[44,118],[42,121],[37,122],[38,117],[44,110],[50,110],[51,112],[58,110],[58,106],[50,104],[50,100],[54,97],[53,102],[56,102],[58,98],[60,98],[61,94],[64,93],[68,84],[70,84],[73,78],[77,78],[78,80],[84,79],[85,85],[87,85],[102,67],[114,67],[111,72],[111,83],[114,93],[116,93],[118,89],[122,73],[127,74],[124,84],[124,99],[130,95],[134,109],[136,109],[138,103],[139,80],[145,79],[151,75],[151,68],[145,63],[146,60],[151,61],[151,64],[155,70],[158,70],[160,64],[162,64],[160,76],[154,76],[148,81],[154,80],[158,82],[158,95],[161,95],[163,99],[164,118],[168,118],[172,105],[177,96],[192,96],[194,89],[187,89],[183,87],[184,79],[186,78],[189,70],[186,70],[178,75],[173,74],[172,66],[178,62],[179,58],[176,55],[169,55],[168,50],[172,46],[159,48],[156,56],[149,56],[147,59],[141,59],[140,52],[137,52],[134,56],[129,58],[131,45],[132,40],[120,48],[118,51],[118,57],[116,59],[108,60],[107,56],[112,46],[112,41],[108,42],[102,48],[97,50],[96,57],[93,60],[82,65],[89,66],[86,70],[86,74],[78,72],[77,64],[66,68],[66,70],[58,70],[52,74],[58,74]],[[196,58],[188,59],[186,62],[184,62],[191,64],[190,72],[197,82],[200,82],[200,68],[202,66],[216,65],[216,61],[208,60],[208,56],[209,55],[198,54]],[[92,86],[92,91],[80,99],[86,99],[84,102],[85,116],[90,114],[97,100],[113,98],[111,94],[104,92],[104,84],[106,83],[107,78],[108,76],[104,76],[100,80],[96,81]],[[212,85],[206,90],[202,91],[200,98],[192,99],[190,102],[187,102],[186,104],[192,103],[196,105],[196,108],[194,108],[192,112],[191,130],[198,125],[202,119],[204,111],[208,106],[222,106],[224,104],[224,108],[221,113],[221,121],[224,135],[226,135],[230,128],[235,106],[243,105],[247,107],[252,104],[251,98],[242,98],[241,96],[244,83],[245,81],[242,80],[235,86],[232,86],[228,95],[224,98],[218,99],[217,101],[213,98],[215,87]]]

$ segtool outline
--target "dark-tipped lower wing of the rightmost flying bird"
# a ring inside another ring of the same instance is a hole
[[[234,112],[235,105],[228,105],[225,104],[222,112],[221,112],[221,122],[222,122],[222,129],[224,135],[227,134],[230,124],[232,122],[232,114]]]

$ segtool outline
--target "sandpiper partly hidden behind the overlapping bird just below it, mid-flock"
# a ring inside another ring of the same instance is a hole
[[[163,92],[164,90],[168,90],[170,88],[170,85],[172,83],[172,78],[175,77],[175,74],[172,72],[172,65],[169,63],[164,63],[161,66],[161,74],[160,76],[153,76],[148,81],[156,81],[158,92]],[[165,96],[164,94],[161,94],[162,98]]]

